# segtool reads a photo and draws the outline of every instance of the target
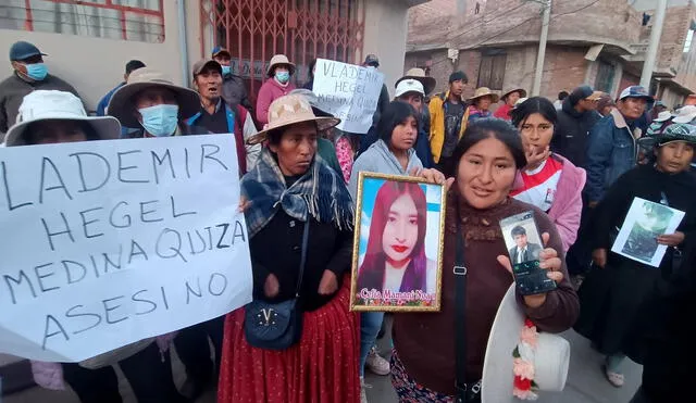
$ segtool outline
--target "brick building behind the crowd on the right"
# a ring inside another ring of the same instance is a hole
[[[540,95],[589,84],[616,97],[639,83],[655,0],[552,0]],[[693,0],[670,0],[651,91],[668,104],[696,89]],[[409,12],[405,68],[430,71],[439,89],[463,70],[475,87],[532,88],[543,4],[532,0],[433,0]],[[440,27],[447,27],[443,29]]]

